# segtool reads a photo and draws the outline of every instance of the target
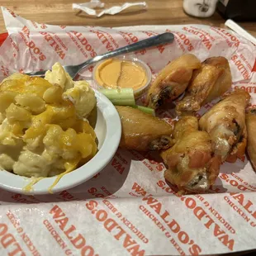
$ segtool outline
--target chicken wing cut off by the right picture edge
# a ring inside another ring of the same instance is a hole
[[[246,114],[246,127],[247,127],[247,154],[249,155],[249,160],[256,172],[256,109],[250,109]]]

